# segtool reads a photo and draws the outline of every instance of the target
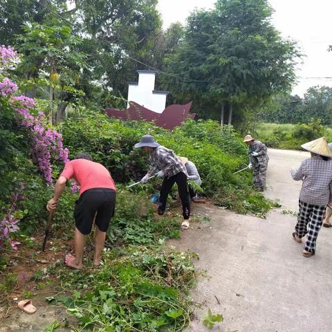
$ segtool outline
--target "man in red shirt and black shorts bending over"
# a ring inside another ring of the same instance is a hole
[[[106,231],[116,206],[116,185],[109,171],[101,164],[94,163],[89,154],[78,154],[66,164],[55,183],[53,199],[47,203],[47,210],[57,207],[67,181],[75,178],[80,185],[80,198],[75,203],[75,256],[66,255],[66,266],[83,268],[83,252],[86,235],[91,233],[93,220],[97,225],[95,233],[95,257],[93,265],[99,266],[104,248]]]

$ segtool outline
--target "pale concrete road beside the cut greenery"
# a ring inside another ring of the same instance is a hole
[[[216,208],[194,205],[194,213],[210,222],[193,223],[180,241],[180,250],[199,254],[196,266],[206,270],[192,292],[203,304],[194,312],[188,332],[331,332],[332,229],[322,228],[316,255],[302,257],[302,245],[291,233],[301,183],[289,176],[306,153],[270,150],[266,196],[283,207],[266,219],[243,216]],[[208,308],[223,314],[212,330],[203,325]]]

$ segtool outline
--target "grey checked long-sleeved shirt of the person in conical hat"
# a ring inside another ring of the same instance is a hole
[[[303,180],[299,199],[311,205],[326,205],[332,199],[332,160],[312,156],[303,160],[299,169],[292,169],[295,181]]]

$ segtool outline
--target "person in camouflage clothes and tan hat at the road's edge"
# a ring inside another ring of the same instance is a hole
[[[252,173],[254,185],[259,192],[263,192],[266,185],[266,169],[268,169],[268,148],[250,135],[247,135],[243,142],[246,142],[249,147],[250,163],[248,167],[254,169]]]

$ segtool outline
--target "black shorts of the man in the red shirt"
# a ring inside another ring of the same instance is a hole
[[[106,232],[115,208],[115,190],[108,188],[86,190],[75,203],[74,218],[77,230],[84,235],[90,234],[95,218],[98,228]]]

